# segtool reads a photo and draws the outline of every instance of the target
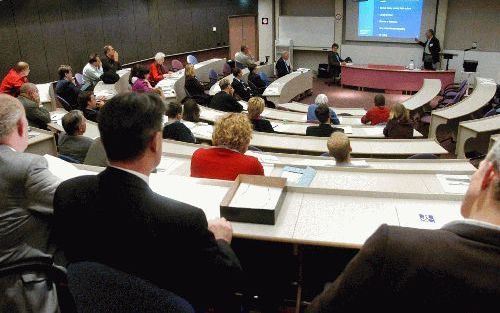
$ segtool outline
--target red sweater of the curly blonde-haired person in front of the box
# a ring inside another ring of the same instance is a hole
[[[200,148],[191,159],[191,177],[235,180],[239,174],[264,175],[259,160],[225,149]]]

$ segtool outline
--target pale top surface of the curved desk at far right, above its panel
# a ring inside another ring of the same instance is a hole
[[[472,114],[488,104],[495,95],[496,89],[497,84],[494,80],[477,77],[476,88],[470,96],[453,106],[433,111],[432,116],[436,115],[451,120]]]

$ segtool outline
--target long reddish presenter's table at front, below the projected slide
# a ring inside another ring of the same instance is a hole
[[[424,79],[439,79],[441,88],[455,82],[455,71],[408,70],[398,65],[342,66],[342,86],[382,89],[386,92],[415,92],[422,88]]]

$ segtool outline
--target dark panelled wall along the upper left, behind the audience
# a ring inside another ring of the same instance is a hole
[[[122,63],[225,46],[228,16],[248,13],[257,0],[0,1],[0,76],[24,60],[32,82],[53,81],[59,65],[80,72],[105,44]]]

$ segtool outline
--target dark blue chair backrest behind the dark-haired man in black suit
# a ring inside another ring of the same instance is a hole
[[[99,263],[70,264],[68,285],[78,312],[194,313],[193,307],[179,296]]]

